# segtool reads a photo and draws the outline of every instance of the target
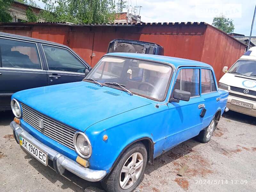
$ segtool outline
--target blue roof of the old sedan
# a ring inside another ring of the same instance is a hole
[[[120,56],[120,57],[132,57],[137,59],[145,59],[145,60],[154,60],[158,62],[165,62],[174,65],[175,68],[180,66],[199,66],[199,67],[208,67],[212,68],[212,66],[195,60],[182,59],[177,57],[169,57],[163,55],[151,55],[151,54],[142,54],[142,53],[125,53],[125,52],[114,52],[108,53],[105,56]]]

